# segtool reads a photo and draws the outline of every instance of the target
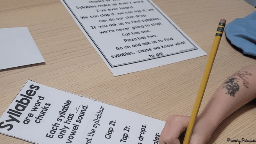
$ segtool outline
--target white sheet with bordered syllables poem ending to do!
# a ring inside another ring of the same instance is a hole
[[[114,76],[206,55],[151,0],[61,0]]]

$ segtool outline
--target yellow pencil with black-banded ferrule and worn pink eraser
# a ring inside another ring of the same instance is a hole
[[[189,144],[190,137],[192,135],[194,125],[195,125],[195,120],[196,120],[196,117],[197,117],[197,114],[198,114],[198,111],[199,111],[199,108],[200,108],[200,105],[201,105],[201,102],[202,102],[202,99],[204,96],[204,91],[205,91],[205,88],[206,88],[206,85],[207,85],[207,82],[208,82],[208,79],[209,79],[209,76],[210,76],[210,73],[212,70],[212,65],[213,65],[213,62],[214,62],[214,59],[215,59],[215,56],[216,56],[216,53],[217,53],[217,50],[219,47],[219,43],[220,43],[220,40],[222,37],[222,33],[224,31],[225,24],[226,24],[226,19],[221,19],[219,21],[219,26],[218,26],[218,29],[217,29],[217,32],[216,32],[216,35],[215,35],[215,38],[213,41],[212,50],[209,55],[209,58],[208,58],[208,61],[206,64],[206,68],[204,71],[204,75],[203,75],[203,78],[202,78],[202,81],[201,81],[201,84],[200,84],[200,87],[199,87],[199,90],[197,93],[197,98],[195,101],[194,108],[192,110],[190,121],[187,126],[187,132],[185,134],[183,144]]]

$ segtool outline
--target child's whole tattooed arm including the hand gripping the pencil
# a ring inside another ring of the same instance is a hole
[[[256,98],[256,65],[244,67],[222,83],[197,116],[190,144],[205,144],[217,126],[230,114]],[[171,115],[165,122],[160,144],[180,144],[179,136],[189,123],[189,116]]]

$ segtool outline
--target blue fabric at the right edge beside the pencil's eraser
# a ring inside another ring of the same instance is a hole
[[[244,18],[237,18],[225,26],[226,37],[243,54],[256,57],[256,11]]]

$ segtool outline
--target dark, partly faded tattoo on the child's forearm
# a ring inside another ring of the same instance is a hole
[[[239,85],[236,82],[239,82],[240,79],[243,80],[243,85],[248,89],[249,82],[247,81],[247,76],[251,76],[251,73],[247,71],[239,71],[236,72],[234,75],[230,76],[225,82],[222,88],[226,88],[228,91],[226,94],[229,96],[235,97],[236,92],[239,90]]]

